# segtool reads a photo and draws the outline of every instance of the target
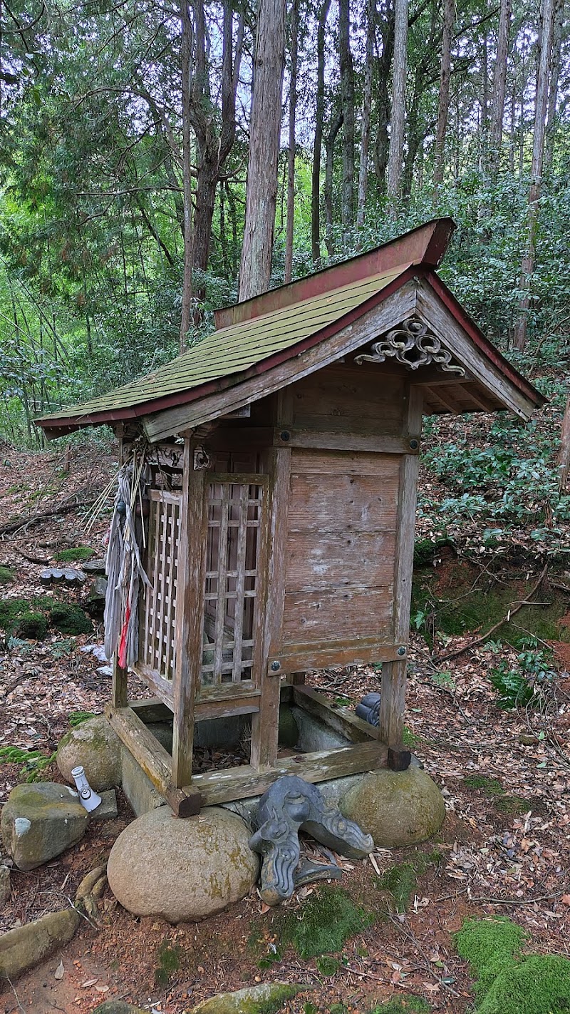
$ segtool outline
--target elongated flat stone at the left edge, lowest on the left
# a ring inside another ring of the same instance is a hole
[[[81,922],[74,909],[50,912],[0,936],[0,979],[15,979],[71,940]]]

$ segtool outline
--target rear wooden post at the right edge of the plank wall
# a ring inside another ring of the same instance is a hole
[[[423,393],[420,388],[408,383],[406,396],[405,432],[417,435],[421,432]],[[418,466],[417,454],[402,456],[394,565],[394,641],[402,647],[407,646],[410,629]],[[382,666],[380,738],[395,749],[400,747],[402,739],[407,665],[404,655],[402,661],[385,662]]]

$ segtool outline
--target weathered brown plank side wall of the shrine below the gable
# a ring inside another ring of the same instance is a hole
[[[326,367],[292,388],[293,433],[344,433],[354,449],[293,447],[282,645],[357,638],[394,642],[400,462],[383,437],[405,429],[405,379],[365,366]],[[358,436],[378,437],[379,452]],[[368,444],[367,444],[368,445]]]

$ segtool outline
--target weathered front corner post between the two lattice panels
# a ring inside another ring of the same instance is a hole
[[[193,469],[193,447],[184,440],[180,540],[176,588],[175,666],[173,674],[173,788],[189,785],[192,774],[194,695],[201,667],[206,560],[205,472]]]

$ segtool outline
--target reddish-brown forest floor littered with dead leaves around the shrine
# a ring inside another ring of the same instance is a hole
[[[114,467],[109,452],[85,446],[67,455],[0,449],[0,530],[21,515],[0,540],[0,565],[14,570],[1,597],[85,598],[85,590],[42,587],[39,573],[66,546],[89,545],[101,555],[106,522],[86,535],[86,504]],[[64,503],[69,510],[30,523]],[[445,562],[439,566],[444,569]],[[523,579],[528,591],[539,569]],[[520,597],[520,585],[513,597]],[[347,940],[336,962],[325,967],[291,947],[280,950],[283,912],[267,911],[256,893],[205,923],[173,927],[134,918],[107,889],[99,902],[100,927],[85,922],[61,953],[0,986],[0,1012],[87,1012],[104,999],[124,998],[149,1011],[182,1014],[217,992],[279,981],[307,984],[283,1008],[290,1014],[327,1014],[334,1004],[365,1014],[394,995],[422,997],[433,1011],[464,1014],[473,1007],[473,980],[453,934],[466,918],[494,915],[519,923],[533,951],[570,956],[570,649],[563,639],[549,645],[556,673],[546,681],[538,712],[504,711],[488,674],[501,660],[512,662],[515,653],[496,635],[442,658],[480,634],[436,638],[431,652],[419,635],[412,638],[408,742],[440,786],[446,818],[436,839],[418,849],[377,850],[361,863],[341,861],[342,888],[375,921]],[[50,756],[69,730],[71,713],[102,710],[109,677],[97,672],[93,655],[80,650],[101,641],[99,625],[90,635],[0,642],[0,746]],[[310,681],[354,704],[378,689],[378,676],[368,668],[315,673]],[[0,803],[25,777],[21,764],[0,765]],[[54,764],[40,777],[61,781]],[[115,820],[91,825],[79,846],[46,867],[12,870],[2,930],[69,903],[85,873],[104,860],[133,819],[117,795]],[[405,912],[388,903],[380,889],[383,874],[395,866],[416,868],[408,876]],[[302,888],[286,914],[301,919],[321,890]],[[62,966],[63,977],[56,977]]]

